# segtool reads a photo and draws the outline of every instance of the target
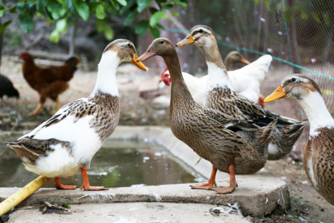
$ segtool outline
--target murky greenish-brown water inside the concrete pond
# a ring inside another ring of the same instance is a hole
[[[0,138],[0,187],[22,187],[38,177],[27,171],[22,161]],[[95,154],[88,170],[92,186],[128,187],[197,182],[201,176],[151,142],[108,140]],[[81,172],[61,178],[65,185],[82,185]],[[53,187],[53,180],[45,187]]]

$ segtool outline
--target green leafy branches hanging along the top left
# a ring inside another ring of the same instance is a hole
[[[12,5],[13,2],[11,1]],[[58,42],[60,35],[65,34],[69,26],[75,26],[77,19],[88,21],[91,16],[95,17],[98,32],[111,40],[114,38],[114,31],[109,27],[107,19],[109,15],[118,15],[125,18],[125,26],[135,23],[135,33],[143,36],[150,30],[151,35],[156,38],[160,35],[159,30],[163,29],[159,21],[170,16],[166,11],[177,5],[186,7],[186,2],[187,0],[20,0],[10,7],[4,2],[0,3],[0,19],[5,13],[17,14],[20,28],[30,33],[34,29],[34,18],[45,17],[49,23],[56,24],[50,40]],[[149,19],[147,14],[143,16],[146,9],[152,14]],[[141,19],[136,22],[138,18]],[[0,23],[0,34],[4,33],[11,23],[12,20]]]

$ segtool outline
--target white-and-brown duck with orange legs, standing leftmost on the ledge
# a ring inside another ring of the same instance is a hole
[[[79,169],[83,179],[80,189],[105,190],[103,186],[90,186],[87,169],[102,143],[114,132],[120,118],[120,99],[116,69],[123,62],[138,68],[147,67],[137,62],[134,44],[126,39],[109,43],[98,64],[93,92],[64,105],[57,113],[32,132],[15,142],[7,142],[25,165],[40,176],[54,178],[57,189],[76,189],[63,185],[60,177],[69,177]]]

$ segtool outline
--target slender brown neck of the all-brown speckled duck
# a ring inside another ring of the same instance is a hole
[[[163,60],[168,67],[168,70],[170,72],[171,76],[171,109],[170,111],[173,111],[174,106],[182,106],[185,104],[188,104],[188,106],[191,106],[194,104],[194,100],[190,94],[189,89],[187,88],[187,85],[185,84],[179,58],[177,56],[176,51],[171,56],[163,57]]]

